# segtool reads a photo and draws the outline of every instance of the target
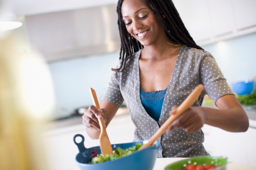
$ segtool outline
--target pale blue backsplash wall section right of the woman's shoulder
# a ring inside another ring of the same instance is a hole
[[[256,33],[203,48],[215,57],[229,85],[256,75]]]

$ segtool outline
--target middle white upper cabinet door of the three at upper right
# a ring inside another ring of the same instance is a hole
[[[234,32],[232,1],[209,0],[209,8],[213,36],[220,37],[232,34]]]

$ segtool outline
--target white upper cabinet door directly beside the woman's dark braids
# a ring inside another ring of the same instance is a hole
[[[184,25],[196,43],[210,40],[211,26],[207,1],[173,0]]]

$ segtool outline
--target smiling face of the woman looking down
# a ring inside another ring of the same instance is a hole
[[[157,43],[159,35],[164,32],[144,0],[124,0],[122,16],[127,31],[144,46]]]

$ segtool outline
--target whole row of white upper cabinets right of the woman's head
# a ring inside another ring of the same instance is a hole
[[[256,32],[255,0],[173,0],[198,45]]]

